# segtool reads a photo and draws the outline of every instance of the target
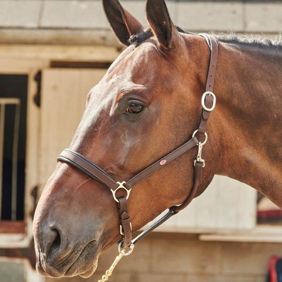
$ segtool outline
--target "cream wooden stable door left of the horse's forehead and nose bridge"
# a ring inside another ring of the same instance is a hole
[[[86,95],[106,69],[45,69],[42,71],[40,125],[40,188],[69,146],[86,105]]]

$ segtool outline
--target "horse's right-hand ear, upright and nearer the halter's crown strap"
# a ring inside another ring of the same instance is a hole
[[[161,47],[170,49],[174,34],[178,34],[178,31],[170,19],[165,1],[147,0],[146,15],[158,43]]]

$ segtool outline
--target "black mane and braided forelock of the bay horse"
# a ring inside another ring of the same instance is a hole
[[[180,33],[194,34],[192,32],[187,32],[178,26],[176,26],[176,29]],[[139,45],[146,39],[152,37],[153,35],[154,34],[151,28],[147,26],[139,34],[130,36],[128,41],[130,44],[137,43]],[[255,48],[266,54],[276,53],[276,54],[282,55],[282,36],[281,34],[279,34],[279,36],[276,36],[274,40],[270,40],[269,38],[262,38],[259,35],[239,36],[238,34],[235,34],[234,32],[230,32],[229,34],[213,33],[213,35],[217,38],[219,42],[222,42],[222,43],[236,45],[244,49],[248,49],[248,48],[254,49]]]

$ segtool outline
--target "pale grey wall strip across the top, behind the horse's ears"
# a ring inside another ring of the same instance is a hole
[[[281,1],[167,0],[175,24],[190,31],[281,32]],[[145,0],[121,0],[142,23]],[[116,45],[100,0],[1,0],[0,42]]]

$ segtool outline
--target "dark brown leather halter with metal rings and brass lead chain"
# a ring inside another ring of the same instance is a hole
[[[103,183],[113,193],[114,200],[118,203],[119,209],[119,232],[123,236],[123,239],[118,242],[119,247],[119,255],[116,257],[115,261],[111,265],[111,267],[106,271],[106,274],[103,275],[102,279],[98,282],[104,282],[108,280],[108,277],[112,274],[115,266],[120,261],[123,256],[130,255],[133,251],[134,245],[141,239],[143,239],[146,235],[152,232],[156,227],[161,225],[163,222],[168,220],[170,217],[187,207],[187,205],[193,200],[198,190],[198,187],[202,181],[202,168],[205,166],[205,161],[202,159],[202,148],[203,145],[207,142],[208,135],[206,132],[207,129],[207,120],[211,111],[215,108],[215,95],[213,94],[213,83],[214,83],[214,75],[215,75],[215,68],[216,62],[218,57],[218,43],[217,40],[213,36],[209,36],[207,34],[199,34],[200,36],[204,37],[209,45],[209,49],[211,51],[211,58],[209,64],[209,72],[206,84],[206,92],[202,95],[202,114],[200,119],[200,125],[197,130],[192,135],[192,138],[189,139],[186,143],[175,149],[174,151],[170,152],[163,158],[159,159],[152,165],[148,166],[147,168],[143,169],[133,178],[128,181],[116,182],[111,178],[106,172],[104,172],[98,165],[89,161],[87,158],[70,149],[65,149],[62,153],[58,156],[57,161],[63,161],[74,167],[77,167],[82,172],[90,176],[91,178]],[[204,135],[204,141],[198,141],[196,134]],[[180,204],[179,206],[173,206],[169,208],[167,214],[165,214],[161,219],[157,222],[152,224],[148,227],[145,231],[139,234],[136,238],[132,240],[132,225],[130,222],[130,217],[128,214],[128,206],[127,206],[127,199],[130,196],[130,191],[132,187],[137,184],[139,181],[143,180],[145,177],[149,176],[156,170],[160,169],[164,165],[168,164],[178,156],[182,155],[183,153],[187,152],[191,148],[198,145],[198,154],[196,160],[194,161],[194,182],[193,187],[187,197],[187,199]]]

